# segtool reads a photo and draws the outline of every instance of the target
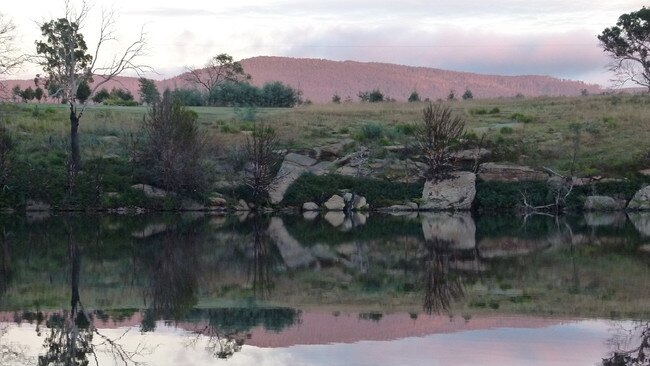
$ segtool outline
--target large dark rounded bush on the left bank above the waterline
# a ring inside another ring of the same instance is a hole
[[[167,191],[197,195],[207,189],[204,141],[197,114],[165,93],[143,119],[141,139],[132,142],[142,178]]]

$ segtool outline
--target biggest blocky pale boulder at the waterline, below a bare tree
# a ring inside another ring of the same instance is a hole
[[[441,181],[427,180],[422,189],[421,210],[469,210],[476,196],[476,175],[454,172]]]

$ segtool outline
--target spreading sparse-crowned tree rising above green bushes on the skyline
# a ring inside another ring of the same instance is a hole
[[[244,72],[241,63],[232,56],[222,53],[212,57],[203,68],[186,67],[188,72],[186,80],[205,89],[208,102],[211,103],[210,94],[225,82],[239,83],[251,78]]]

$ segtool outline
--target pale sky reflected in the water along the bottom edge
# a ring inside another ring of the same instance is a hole
[[[434,334],[395,341],[299,345],[287,348],[244,346],[231,359],[216,360],[201,341],[186,332],[164,327],[141,335],[133,328],[123,338],[126,347],[149,346],[149,365],[594,365],[606,356],[611,322],[588,320],[544,328],[499,328]],[[124,329],[102,330],[118,337]],[[45,334],[44,334],[45,335]],[[29,325],[13,327],[2,339],[28,347],[36,356],[43,339]],[[155,346],[155,347],[154,347]],[[100,360],[108,360],[100,355]],[[100,365],[112,363],[100,361]]]

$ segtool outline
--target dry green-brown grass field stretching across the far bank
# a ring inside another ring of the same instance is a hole
[[[425,103],[348,103],[281,108],[192,107],[208,159],[241,147],[254,123],[278,134],[280,148],[312,148],[353,139],[371,158],[392,153],[387,145],[408,144]],[[548,167],[578,176],[630,177],[650,167],[650,95],[508,98],[450,103],[466,120],[463,147],[480,141],[494,161]],[[128,162],[129,137],[137,134],[147,107],[88,106],[81,119],[82,161],[116,158]],[[20,159],[64,170],[69,145],[65,105],[0,104],[0,118]],[[485,136],[483,138],[483,136]],[[573,157],[575,155],[575,164]],[[219,164],[214,164],[219,166]],[[215,172],[219,174],[220,172]]]

